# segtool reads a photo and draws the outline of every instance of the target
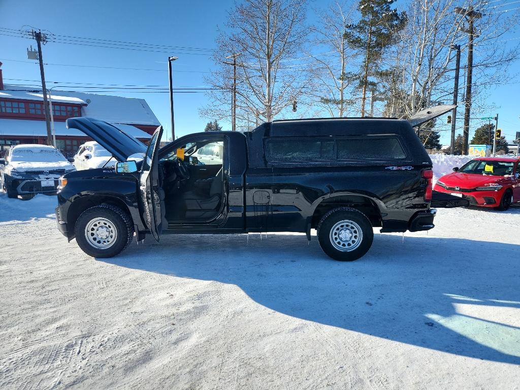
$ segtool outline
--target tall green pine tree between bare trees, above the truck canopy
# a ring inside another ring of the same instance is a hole
[[[361,117],[365,116],[367,89],[375,83],[370,76],[377,76],[383,72],[381,57],[386,47],[392,45],[400,30],[407,22],[406,12],[398,14],[390,6],[394,0],[360,0],[358,10],[361,19],[357,24],[348,26],[346,37],[350,47],[360,50],[365,57],[359,81],[362,89]]]

